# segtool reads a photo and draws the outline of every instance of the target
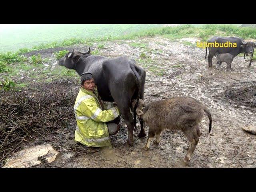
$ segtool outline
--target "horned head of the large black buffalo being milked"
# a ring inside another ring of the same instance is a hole
[[[80,60],[81,56],[90,55],[91,49],[89,48],[88,52],[80,52],[78,50],[73,49],[68,52],[64,57],[62,57],[58,64],[60,66],[65,66],[68,69],[74,69],[75,64]]]

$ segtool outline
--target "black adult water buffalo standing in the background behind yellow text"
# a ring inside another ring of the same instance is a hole
[[[217,43],[218,47],[215,46],[215,42]],[[209,67],[212,67],[212,58],[216,52],[219,52],[220,54],[229,53],[233,57],[237,56],[240,53],[244,53],[246,54],[246,56],[248,56],[248,53],[250,53],[253,56],[254,48],[256,47],[255,42],[244,42],[241,38],[236,38],[236,37],[213,37],[209,39],[207,43],[208,43],[208,50],[209,50],[209,55],[208,55]],[[236,44],[236,46],[234,46],[234,43]],[[228,45],[228,47],[225,47],[226,45]],[[207,47],[206,47],[205,58],[206,56],[207,56]],[[251,66],[252,56],[251,56],[251,60],[248,67]]]

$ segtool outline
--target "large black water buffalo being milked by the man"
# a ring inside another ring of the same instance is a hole
[[[128,127],[128,142],[133,143],[133,130],[136,127],[136,112],[134,118],[130,113],[131,101],[144,99],[144,84],[146,72],[136,66],[134,59],[122,56],[107,58],[96,56],[78,50],[68,52],[62,57],[59,65],[74,69],[81,76],[83,72],[90,72],[94,76],[98,93],[103,101],[115,101]],[[136,108],[135,108],[136,109]],[[138,137],[146,136],[143,121],[140,120],[141,130]]]

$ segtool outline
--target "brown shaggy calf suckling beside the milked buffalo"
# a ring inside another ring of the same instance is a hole
[[[136,100],[132,102],[132,109],[136,104]],[[198,128],[199,122],[202,120],[206,112],[210,124],[209,133],[212,127],[212,116],[208,108],[201,104],[198,100],[191,97],[175,97],[166,100],[154,101],[145,105],[142,99],[139,99],[136,113],[144,120],[148,126],[148,141],[144,150],[149,150],[150,141],[156,135],[154,144],[159,144],[160,134],[164,129],[182,130],[190,141],[188,152],[184,158],[184,163],[188,165],[190,156],[194,152],[201,135]]]

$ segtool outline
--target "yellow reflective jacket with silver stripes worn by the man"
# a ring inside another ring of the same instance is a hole
[[[111,146],[108,127],[105,122],[114,120],[120,115],[117,107],[102,110],[98,91],[81,88],[74,105],[76,116],[75,141],[86,146]]]

